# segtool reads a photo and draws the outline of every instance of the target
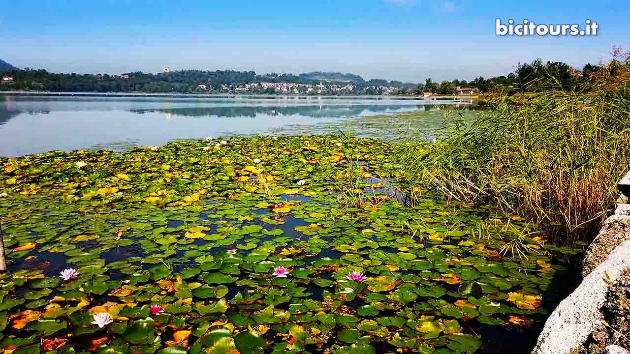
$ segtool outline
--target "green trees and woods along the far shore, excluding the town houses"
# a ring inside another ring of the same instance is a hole
[[[518,63],[515,71],[507,76],[476,77],[472,81],[455,79],[434,83],[429,77],[425,83],[402,83],[401,81],[387,81],[371,79],[364,81],[360,76],[339,73],[311,72],[307,74],[265,74],[258,75],[254,71],[233,70],[181,70],[171,73],[147,74],[144,72],[129,72],[122,75],[109,74],[55,74],[43,69],[13,70],[3,72],[13,76],[12,83],[4,83],[1,89],[38,90],[38,91],[72,91],[72,92],[151,92],[151,93],[195,93],[200,91],[199,84],[208,88],[221,89],[222,85],[236,87],[248,83],[299,83],[319,84],[324,74],[343,75],[344,79],[354,79],[353,84],[363,88],[360,93],[379,94],[372,89],[374,86],[392,86],[399,89],[399,94],[454,94],[457,87],[473,88],[477,92],[490,91],[506,92],[537,92],[549,89],[572,89],[588,81],[599,66],[587,64],[581,71],[563,62],[542,62],[536,59],[530,63]],[[270,93],[272,93],[270,91]]]

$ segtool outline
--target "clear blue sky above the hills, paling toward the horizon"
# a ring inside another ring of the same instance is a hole
[[[497,37],[495,19],[597,21],[597,37]],[[580,68],[630,49],[626,1],[3,0],[0,59],[52,72],[341,71],[420,82]]]

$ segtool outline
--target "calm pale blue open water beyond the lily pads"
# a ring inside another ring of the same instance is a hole
[[[129,149],[171,140],[251,134],[324,134],[347,128],[388,137],[382,115],[423,111],[414,125],[440,126],[444,105],[471,100],[396,97],[236,96],[231,98],[68,97],[0,94],[0,156],[51,150]],[[379,116],[379,118],[374,118]]]

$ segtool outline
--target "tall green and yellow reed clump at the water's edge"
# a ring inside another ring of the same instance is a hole
[[[437,135],[401,149],[410,185],[563,226],[562,241],[588,239],[630,169],[630,60],[571,91],[501,96],[473,122],[452,112]]]

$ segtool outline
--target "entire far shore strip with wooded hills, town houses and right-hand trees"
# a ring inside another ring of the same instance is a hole
[[[462,96],[488,92],[545,91],[552,78],[560,88],[575,88],[589,80],[599,66],[586,64],[577,70],[564,62],[518,63],[506,76],[479,76],[424,83],[364,79],[356,74],[313,71],[302,74],[256,74],[235,70],[175,70],[167,66],[156,74],[136,71],[120,74],[60,74],[45,69],[18,69],[0,60],[1,91],[51,91],[82,93],[165,94],[302,94],[302,95],[408,95]]]

